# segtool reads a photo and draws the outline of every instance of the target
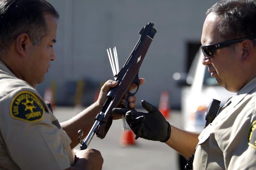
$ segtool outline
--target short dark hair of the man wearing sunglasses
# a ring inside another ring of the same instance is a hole
[[[256,36],[255,0],[222,0],[207,10],[218,16],[218,32],[226,40]]]

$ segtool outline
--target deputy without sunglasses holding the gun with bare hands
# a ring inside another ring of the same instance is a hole
[[[54,61],[59,14],[45,0],[0,0],[0,169],[100,170],[103,158],[95,149],[74,151],[78,130],[89,133],[110,88],[68,121],[59,122],[35,86]],[[140,79],[140,84],[144,79]],[[129,107],[136,97],[128,98]],[[121,115],[114,115],[121,118]]]

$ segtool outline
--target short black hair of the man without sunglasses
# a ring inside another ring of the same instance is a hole
[[[47,34],[44,15],[59,19],[59,13],[45,0],[0,0],[0,55],[20,33],[27,33],[34,45]]]

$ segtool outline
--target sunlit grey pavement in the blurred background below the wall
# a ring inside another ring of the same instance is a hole
[[[55,107],[53,112],[62,122],[80,109]],[[180,127],[180,111],[172,110],[167,120]],[[122,133],[122,119],[115,120],[104,139],[94,136],[90,142],[88,148],[99,150],[104,158],[102,170],[178,170],[177,152],[165,143],[139,138],[134,140],[134,145],[121,146]]]

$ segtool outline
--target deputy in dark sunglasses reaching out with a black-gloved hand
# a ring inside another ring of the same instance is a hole
[[[116,108],[136,134],[165,142],[189,157],[193,169],[256,169],[256,5],[253,0],[224,0],[206,12],[202,30],[202,63],[219,85],[237,94],[221,108],[201,134],[178,129],[159,110]]]

